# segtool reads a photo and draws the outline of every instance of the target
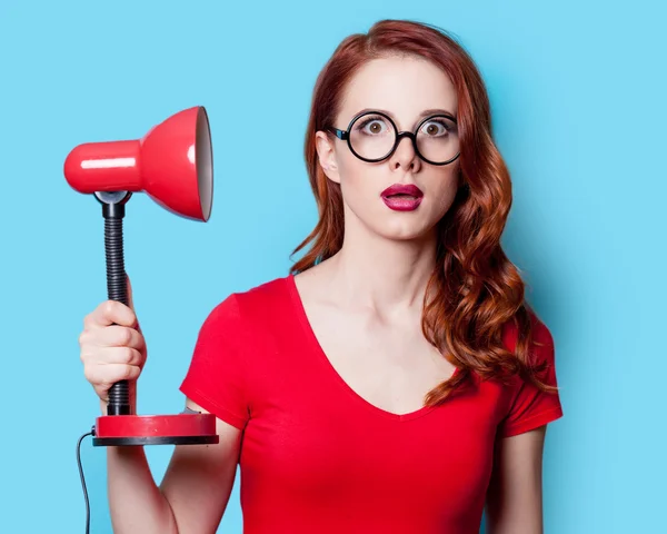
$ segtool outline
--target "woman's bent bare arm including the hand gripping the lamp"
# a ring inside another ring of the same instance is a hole
[[[147,358],[146,339],[132,304],[100,303],[83,319],[79,336],[84,376],[107,413],[109,387],[130,380],[136,407],[136,380]],[[188,407],[206,413],[190,399]],[[135,412],[135,411],[133,411]],[[160,486],[153,479],[143,447],[107,447],[107,484],[117,534],[201,534],[215,532],[225,508],[239,457],[241,431],[217,419],[216,445],[177,445]]]

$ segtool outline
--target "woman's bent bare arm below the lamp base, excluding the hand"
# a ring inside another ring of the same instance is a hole
[[[190,399],[187,406],[207,413]],[[216,431],[217,445],[177,445],[159,487],[143,447],[108,447],[113,532],[216,532],[233,486],[241,436],[241,431],[220,419]]]

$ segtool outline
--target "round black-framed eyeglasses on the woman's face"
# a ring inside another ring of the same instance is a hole
[[[412,141],[417,156],[430,165],[451,164],[460,154],[457,122],[448,115],[431,115],[411,132],[398,131],[391,117],[381,111],[364,111],[352,118],[347,130],[327,130],[347,141],[351,152],[369,164],[389,158],[404,137]]]

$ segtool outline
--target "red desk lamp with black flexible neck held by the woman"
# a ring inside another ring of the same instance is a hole
[[[102,205],[107,290],[110,300],[129,305],[122,246],[122,219],[133,192],[146,192],[185,218],[206,222],[211,214],[213,165],[209,121],[203,107],[180,111],[142,139],[79,145],[64,161],[64,177],[79,192]],[[97,418],[93,445],[213,444],[212,414],[136,415],[127,380],[111,386],[107,415]]]

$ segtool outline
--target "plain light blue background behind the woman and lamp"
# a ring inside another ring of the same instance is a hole
[[[149,345],[139,412],[177,413],[206,314],[283,276],[316,222],[302,139],[319,69],[347,34],[409,18],[450,30],[471,52],[512,175],[504,244],[556,339],[566,413],[546,444],[546,532],[659,532],[665,14],[657,1],[4,0],[0,531],[84,526],[74,451],[99,405],[77,338],[106,299],[103,222],[97,201],[64,181],[69,150],[139,138],[190,106],[209,111],[209,224],[136,195],[125,225]],[[147,451],[160,479],[171,447]],[[92,532],[111,532],[106,452],[89,437],[82,461]],[[241,532],[238,486],[220,532]]]

